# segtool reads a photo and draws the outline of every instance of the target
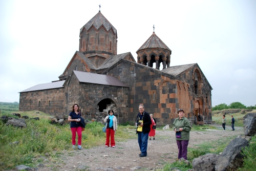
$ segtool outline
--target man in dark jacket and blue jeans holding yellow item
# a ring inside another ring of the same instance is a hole
[[[136,117],[136,126],[138,134],[138,143],[140,146],[141,154],[139,157],[146,157],[147,153],[147,139],[148,133],[150,133],[151,118],[150,114],[144,111],[144,105],[139,105],[139,113]]]

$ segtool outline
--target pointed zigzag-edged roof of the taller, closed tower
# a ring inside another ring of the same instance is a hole
[[[84,25],[81,29],[80,29],[80,33],[82,32],[83,28],[86,29],[87,31],[94,26],[97,30],[101,27],[104,26],[104,28],[107,31],[110,31],[110,29],[112,28],[114,33],[116,34],[117,31],[114,28],[114,26],[112,26],[112,24],[108,21],[108,19],[106,19],[101,12],[99,11],[86,25]]]

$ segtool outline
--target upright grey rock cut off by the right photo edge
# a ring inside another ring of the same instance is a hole
[[[256,133],[256,113],[248,113],[244,119],[244,134],[248,136]]]

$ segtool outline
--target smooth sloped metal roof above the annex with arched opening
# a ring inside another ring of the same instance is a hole
[[[116,77],[113,77],[113,76],[75,71],[75,70],[73,72],[78,78],[79,82],[103,84],[103,85],[118,86],[118,87],[128,87],[124,83],[122,83],[120,80],[118,80]]]

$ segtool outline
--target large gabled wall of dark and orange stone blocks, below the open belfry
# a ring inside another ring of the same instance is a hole
[[[197,95],[194,92],[196,69],[201,78],[200,94]],[[193,120],[195,102],[200,103],[199,113],[204,115],[204,119],[211,119],[211,88],[197,65],[173,79],[153,68],[123,60],[107,74],[118,77],[129,86],[129,121],[135,121],[139,104],[144,104],[145,111],[154,114],[158,124],[172,124],[178,117],[177,110],[181,108],[185,117]],[[205,105],[205,92],[208,105]]]

